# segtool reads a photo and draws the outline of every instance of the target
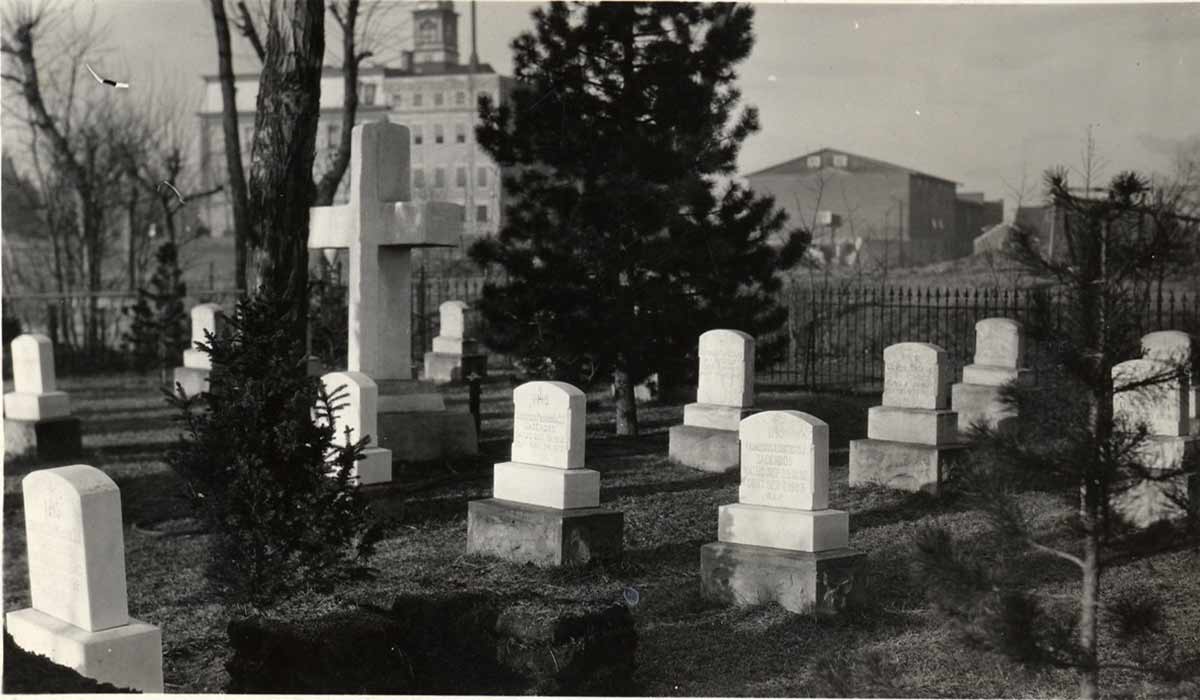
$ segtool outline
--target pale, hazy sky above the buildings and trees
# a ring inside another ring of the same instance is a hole
[[[412,41],[414,2],[391,5],[376,24],[379,59],[396,65]],[[200,76],[216,72],[208,0],[72,6],[77,16],[94,11],[104,28],[92,64],[102,74],[133,89],[164,85],[198,104]],[[481,61],[511,74],[509,43],[532,28],[534,6],[479,2]],[[458,11],[466,60],[468,5]],[[1038,197],[1048,167],[1078,166],[1090,127],[1109,175],[1169,173],[1180,145],[1200,139],[1196,2],[758,4],[755,35],[738,74],[762,130],[743,146],[742,174],[829,146],[954,180],[1010,207],[1019,193]],[[257,70],[240,38],[234,62]]]

